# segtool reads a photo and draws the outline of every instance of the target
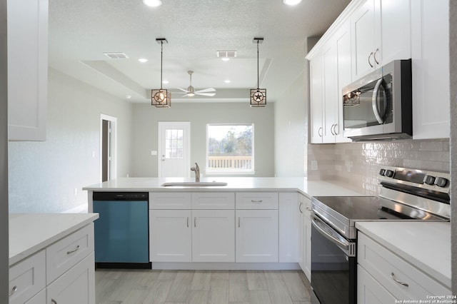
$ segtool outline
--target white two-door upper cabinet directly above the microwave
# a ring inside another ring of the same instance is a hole
[[[351,27],[354,80],[411,58],[410,0],[367,0],[351,16]]]

